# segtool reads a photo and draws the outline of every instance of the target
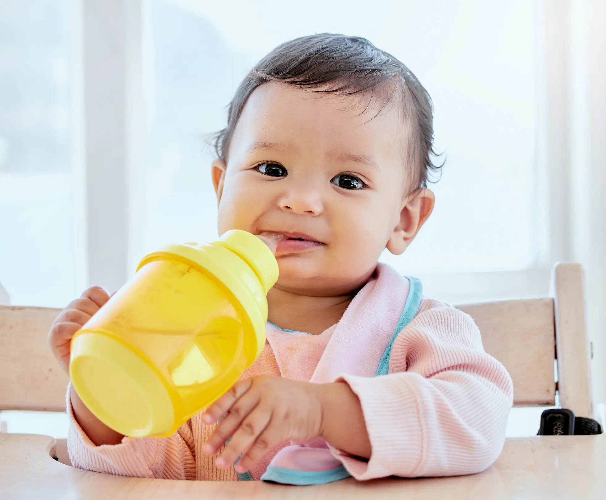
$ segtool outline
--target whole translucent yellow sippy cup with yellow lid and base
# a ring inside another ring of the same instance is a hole
[[[277,279],[270,249],[245,231],[147,255],[74,335],[76,392],[126,436],[170,435],[255,361]]]

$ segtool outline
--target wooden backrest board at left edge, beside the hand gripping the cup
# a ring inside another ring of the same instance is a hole
[[[46,340],[58,314],[0,306],[0,410],[65,411],[68,378]]]

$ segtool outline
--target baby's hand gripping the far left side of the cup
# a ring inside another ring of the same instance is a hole
[[[48,344],[65,373],[70,373],[70,345],[74,334],[84,326],[110,296],[99,286],[93,286],[61,311],[48,332]]]

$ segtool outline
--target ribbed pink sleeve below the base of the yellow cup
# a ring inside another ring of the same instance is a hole
[[[73,416],[69,388],[67,413],[67,450],[74,467],[139,478],[196,479],[191,421],[168,438],[125,437],[121,444],[95,446]]]

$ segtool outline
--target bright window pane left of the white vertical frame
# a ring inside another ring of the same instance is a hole
[[[85,283],[73,2],[0,2],[0,282],[64,306]]]

